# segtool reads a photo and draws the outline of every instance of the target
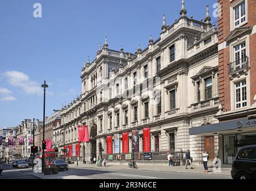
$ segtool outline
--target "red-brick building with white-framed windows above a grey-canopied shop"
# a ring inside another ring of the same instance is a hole
[[[190,134],[218,136],[218,157],[231,167],[240,147],[256,144],[256,1],[218,4],[219,123],[191,128]]]

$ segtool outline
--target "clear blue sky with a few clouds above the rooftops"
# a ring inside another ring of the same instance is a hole
[[[34,18],[33,5],[42,5]],[[205,18],[217,0],[185,0],[187,16]],[[0,1],[0,128],[23,119],[42,119],[42,88],[47,81],[46,115],[81,93],[81,68],[96,57],[108,35],[109,48],[135,52],[147,47],[150,35],[159,38],[162,16],[167,24],[179,18],[181,0]]]

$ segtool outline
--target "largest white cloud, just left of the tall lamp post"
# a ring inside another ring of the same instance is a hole
[[[42,88],[36,81],[31,81],[29,76],[22,72],[8,71],[4,75],[7,81],[14,87],[22,88],[28,94],[42,94]]]

